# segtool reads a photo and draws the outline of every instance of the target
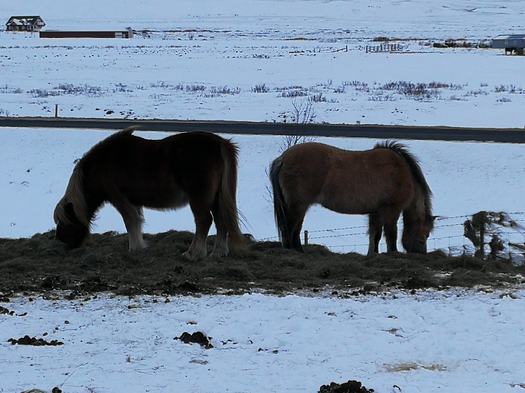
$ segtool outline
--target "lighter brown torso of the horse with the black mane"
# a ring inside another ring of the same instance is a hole
[[[286,200],[319,203],[340,213],[368,214],[381,205],[406,205],[414,179],[392,150],[344,150],[304,143],[285,151],[279,180]]]

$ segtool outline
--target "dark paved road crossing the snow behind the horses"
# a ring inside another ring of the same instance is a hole
[[[145,131],[203,130],[224,134],[339,136],[376,139],[427,139],[525,143],[522,128],[389,126],[379,124],[286,124],[266,122],[180,121],[65,117],[0,117],[0,127],[122,129],[139,125]]]

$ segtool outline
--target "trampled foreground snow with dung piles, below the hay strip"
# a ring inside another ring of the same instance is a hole
[[[16,299],[5,305],[27,315],[0,315],[0,392],[313,393],[348,379],[377,393],[518,392],[524,301],[523,292],[466,291]],[[185,331],[213,337],[214,348],[173,340]],[[46,332],[64,345],[7,343]]]

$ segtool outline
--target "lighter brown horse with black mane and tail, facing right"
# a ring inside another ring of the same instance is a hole
[[[350,151],[321,143],[290,147],[271,164],[277,230],[285,248],[303,252],[300,233],[311,205],[346,214],[368,214],[368,255],[397,250],[397,220],[403,212],[403,247],[426,253],[434,229],[432,191],[417,159],[394,141],[372,150]]]

